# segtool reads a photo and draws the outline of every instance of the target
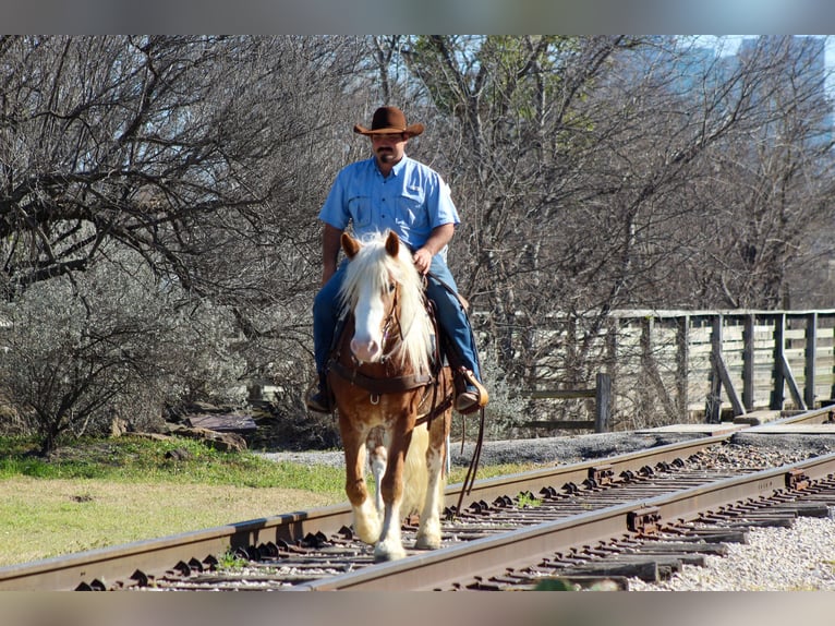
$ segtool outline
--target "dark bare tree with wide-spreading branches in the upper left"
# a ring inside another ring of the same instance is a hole
[[[304,38],[19,37],[0,52],[12,293],[84,269],[105,240],[210,292],[192,263],[207,217],[226,228],[269,202],[294,208],[305,188],[293,152],[325,145],[353,62],[334,68],[339,43]]]

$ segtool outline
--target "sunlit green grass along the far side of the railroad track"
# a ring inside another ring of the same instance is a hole
[[[49,458],[0,437],[0,567],[346,502],[344,470],[187,438],[80,440]],[[173,454],[177,453],[177,454]],[[492,478],[530,469],[479,469]],[[449,483],[467,468],[453,468]]]

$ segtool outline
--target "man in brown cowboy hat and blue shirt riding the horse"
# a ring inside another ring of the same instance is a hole
[[[482,385],[472,327],[446,258],[460,218],[441,177],[406,155],[408,141],[423,132],[423,124],[407,124],[399,108],[380,107],[374,112],[371,129],[356,124],[353,130],[371,139],[374,156],[337,174],[319,212],[325,225],[322,289],[313,303],[318,386],[307,397],[307,408],[334,410],[327,360],[341,312],[338,294],[347,264],[347,260],[337,264],[340,238],[350,224],[359,239],[388,229],[411,250],[418,272],[426,276],[426,296],[434,304],[447,358],[459,376],[455,408],[460,413],[473,412],[487,404],[487,392]]]

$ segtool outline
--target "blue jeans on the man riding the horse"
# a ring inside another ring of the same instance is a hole
[[[334,333],[339,321],[339,287],[344,278],[348,260],[339,264],[334,276],[316,293],[313,300],[313,351],[316,360],[316,372],[325,372],[328,356],[334,344]],[[455,293],[450,293],[441,282],[446,284],[451,290],[458,291],[456,281],[449,267],[441,257],[435,255],[432,258],[429,274],[426,286],[426,296],[435,303],[435,311],[438,318],[438,327],[449,339],[451,348],[460,364],[472,370],[475,377],[481,382],[481,371],[479,369],[479,356],[475,349],[475,338],[473,337],[470,320],[463,310],[461,302]],[[453,356],[452,358],[455,359]]]

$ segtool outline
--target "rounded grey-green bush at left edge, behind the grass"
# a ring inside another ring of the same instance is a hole
[[[38,282],[2,306],[3,389],[44,454],[114,418],[155,430],[166,404],[241,394],[232,316],[205,301],[177,305],[141,260],[113,254],[118,267]]]

